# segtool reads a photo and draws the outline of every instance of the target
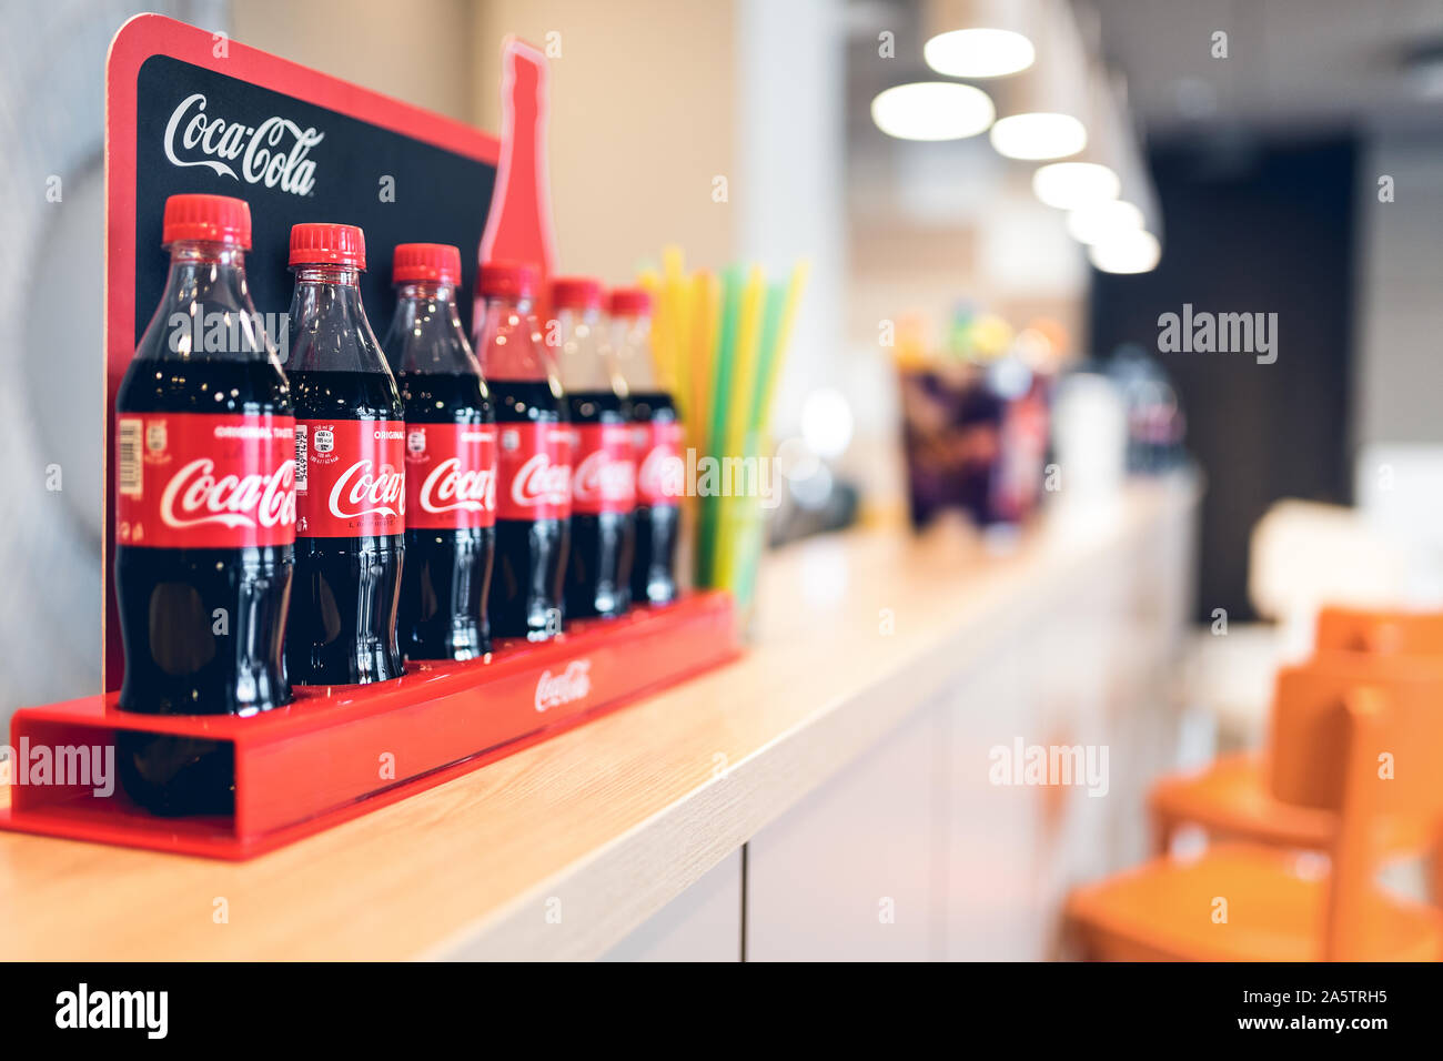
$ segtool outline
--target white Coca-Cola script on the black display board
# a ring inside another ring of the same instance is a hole
[[[326,139],[313,126],[271,115],[250,126],[205,113],[202,92],[188,95],[166,123],[166,157],[176,166],[206,166],[221,176],[250,185],[280,188],[291,195],[310,195],[316,186],[316,163],[306,154]],[[179,136],[177,136],[179,134]],[[177,150],[179,149],[179,150]],[[186,157],[199,153],[211,157]],[[237,173],[231,163],[237,163]]]

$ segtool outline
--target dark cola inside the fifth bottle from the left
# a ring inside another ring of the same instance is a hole
[[[567,394],[573,426],[625,424],[625,403],[613,391]],[[573,456],[571,472],[577,459]],[[631,606],[635,533],[631,512],[571,512],[566,560],[566,616],[616,618]]]

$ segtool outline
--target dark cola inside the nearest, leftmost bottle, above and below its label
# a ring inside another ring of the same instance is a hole
[[[264,361],[134,361],[115,409],[290,413],[286,381]],[[117,544],[115,598],[126,644],[120,707],[146,715],[250,715],[289,703],[283,645],[293,563],[290,546]],[[234,810],[229,743],[121,730],[115,754],[123,787],[156,814]]]

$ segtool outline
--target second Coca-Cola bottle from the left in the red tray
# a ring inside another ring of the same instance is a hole
[[[304,686],[400,677],[395,608],[405,553],[405,423],[356,286],[354,225],[290,230],[296,403],[296,586],[286,661]]]

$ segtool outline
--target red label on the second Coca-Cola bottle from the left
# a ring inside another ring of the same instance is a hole
[[[355,538],[405,530],[405,424],[296,422],[296,534]]]

